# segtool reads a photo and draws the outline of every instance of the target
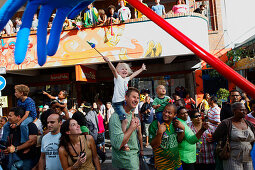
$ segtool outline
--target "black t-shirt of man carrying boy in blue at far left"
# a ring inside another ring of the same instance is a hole
[[[28,124],[28,131],[29,135],[38,135],[38,129],[34,123],[29,123]],[[21,145],[20,139],[21,139],[21,132],[20,132],[20,127],[18,126],[15,129],[10,129],[10,136],[13,135],[12,139],[9,139],[15,147]],[[24,154],[24,150],[18,150],[18,156],[21,159],[34,159],[36,155],[38,154],[36,151],[36,145],[31,146],[30,151],[26,154]]]

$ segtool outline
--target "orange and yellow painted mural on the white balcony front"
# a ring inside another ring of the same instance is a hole
[[[124,31],[125,25],[113,26],[112,31],[110,27],[65,31],[61,35],[56,55],[48,56],[43,67],[104,62],[102,57],[86,41],[95,43],[97,50],[108,56],[112,61],[161,56],[162,46],[159,42],[153,40],[148,41],[146,46],[142,46],[141,42],[134,37],[126,41],[125,45],[118,45],[121,38],[123,38]],[[16,65],[14,63],[15,38],[1,39],[0,66],[6,67],[7,70],[40,67],[35,57],[37,36],[31,35],[29,41],[25,61],[20,65]]]

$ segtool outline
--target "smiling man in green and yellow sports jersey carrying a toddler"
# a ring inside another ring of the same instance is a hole
[[[182,169],[178,142],[185,136],[185,127],[179,120],[173,120],[175,117],[176,106],[168,104],[163,111],[163,123],[154,120],[149,127],[149,142],[153,148],[157,170]],[[183,132],[176,133],[175,128],[182,129]]]

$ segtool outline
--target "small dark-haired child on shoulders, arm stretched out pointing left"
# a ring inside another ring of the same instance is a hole
[[[69,113],[68,113],[68,110],[67,110],[67,91],[66,90],[61,90],[59,93],[58,93],[58,96],[52,96],[50,95],[49,93],[43,91],[43,94],[48,96],[50,99],[52,100],[57,100],[57,102],[55,103],[55,105],[57,107],[60,107],[62,112],[65,113],[65,119],[69,119]]]

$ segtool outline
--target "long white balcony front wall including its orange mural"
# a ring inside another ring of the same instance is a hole
[[[209,50],[208,21],[196,13],[166,15],[167,22],[172,24],[198,45]],[[1,67],[7,70],[30,70],[73,66],[77,64],[99,64],[102,57],[86,41],[96,44],[96,49],[111,61],[141,60],[176,56],[193,55],[185,46],[147,18],[131,19],[122,24],[97,26],[81,30],[64,30],[57,53],[48,56],[43,67],[37,64],[37,36],[32,32],[25,61],[14,63],[14,46],[16,35],[1,39]]]

